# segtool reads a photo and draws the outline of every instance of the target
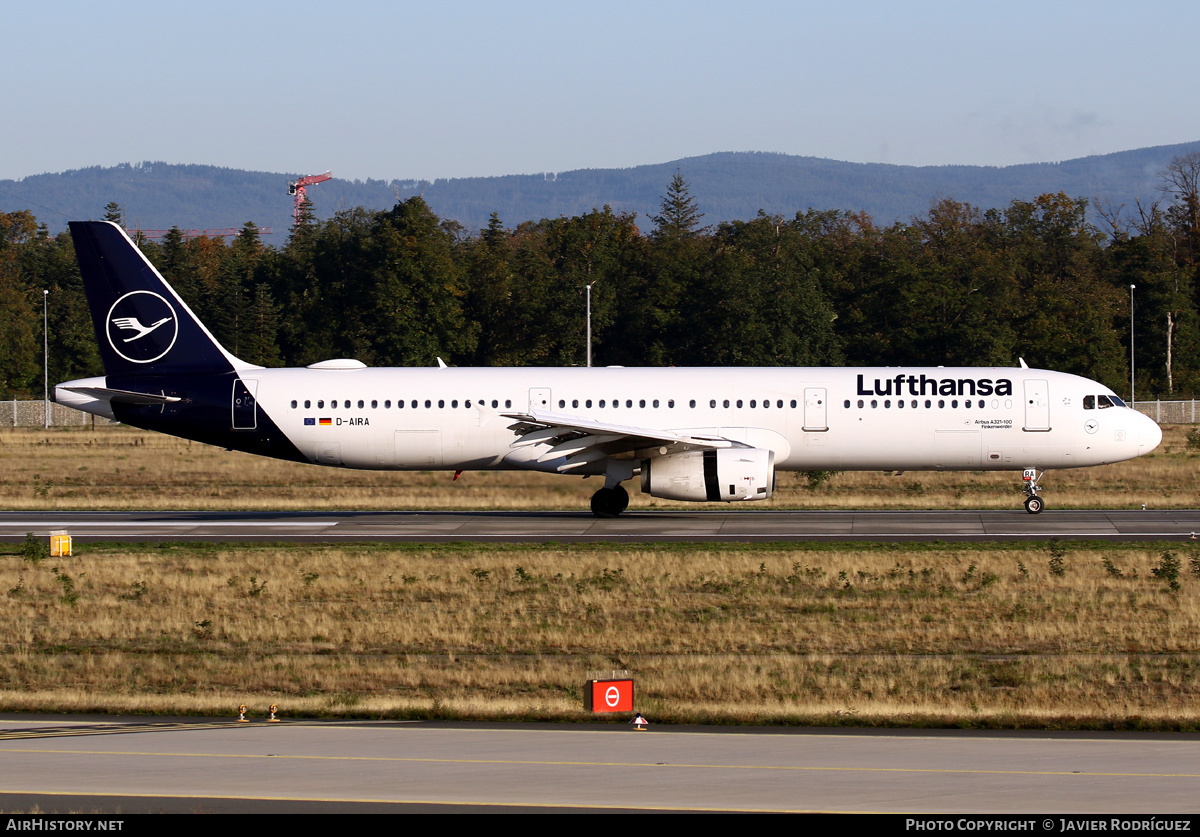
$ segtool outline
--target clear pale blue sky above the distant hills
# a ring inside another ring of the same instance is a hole
[[[1198,31],[1195,0],[5,2],[0,179],[1068,159],[1200,139]]]

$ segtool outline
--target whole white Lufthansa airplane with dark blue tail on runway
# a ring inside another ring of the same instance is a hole
[[[336,468],[599,476],[592,512],[767,500],[779,471],[1045,471],[1148,453],[1108,387],[1018,368],[264,368],[234,357],[119,225],[71,222],[104,374],[55,401],[194,441]],[[144,325],[150,324],[150,325]],[[131,335],[132,332],[132,335]]]

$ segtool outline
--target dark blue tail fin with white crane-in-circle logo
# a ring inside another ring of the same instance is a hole
[[[107,221],[70,225],[107,375],[253,368],[217,343],[125,230]]]

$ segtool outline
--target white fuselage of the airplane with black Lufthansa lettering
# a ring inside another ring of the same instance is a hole
[[[240,377],[311,462],[362,469],[559,470],[559,460],[542,459],[546,446],[514,445],[517,421],[504,414],[720,436],[773,451],[781,470],[1079,468],[1130,459],[1162,439],[1127,407],[1085,409],[1099,396],[1120,404],[1108,387],[1026,368],[304,368]]]

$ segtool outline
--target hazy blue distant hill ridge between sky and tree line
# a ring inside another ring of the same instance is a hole
[[[571,216],[593,207],[649,216],[678,170],[691,187],[703,223],[752,218],[758,210],[784,216],[809,207],[865,211],[877,222],[923,215],[930,203],[954,198],[984,209],[1044,192],[1133,206],[1153,200],[1159,171],[1176,156],[1200,152],[1200,141],[1024,165],[890,165],[846,163],[764,152],[721,152],[629,169],[578,169],[534,175],[416,180],[338,180],[310,188],[317,215],[340,209],[388,209],[396,198],[422,193],[433,211],[467,229],[497,212],[506,227]],[[0,180],[0,211],[31,210],[52,231],[78,218],[98,218],[115,200],[130,228],[211,229],[253,221],[282,243],[292,225],[287,182],[294,175],[215,165],[167,163],[92,167],[22,180]]]

